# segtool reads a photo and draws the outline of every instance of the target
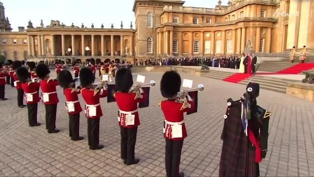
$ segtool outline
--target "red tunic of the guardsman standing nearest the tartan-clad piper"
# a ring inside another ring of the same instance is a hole
[[[189,108],[187,102],[179,102],[175,100],[163,100],[160,102],[160,107],[164,112],[165,120],[171,123],[178,123],[182,122],[182,137],[181,138],[172,138],[172,126],[169,124],[166,124],[165,132],[164,132],[164,138],[167,138],[169,140],[174,141],[181,141],[184,140],[185,137],[187,137],[187,132],[184,124],[184,117],[183,113],[187,112],[189,110],[194,110],[194,101],[188,101],[188,103],[191,105]]]

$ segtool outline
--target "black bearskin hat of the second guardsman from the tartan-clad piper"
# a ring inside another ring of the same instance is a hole
[[[116,74],[116,90],[118,92],[129,92],[133,85],[133,77],[130,70],[120,68]]]

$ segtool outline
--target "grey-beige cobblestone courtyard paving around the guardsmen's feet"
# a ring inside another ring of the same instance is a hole
[[[139,164],[126,166],[120,160],[116,103],[102,99],[100,142],[105,148],[91,151],[84,113],[80,135],[85,139],[70,141],[61,89],[56,123],[61,131],[48,134],[43,104],[38,107],[38,120],[43,125],[30,128],[27,109],[17,108],[16,90],[7,85],[9,100],[0,102],[0,176],[165,176],[163,113],[158,107],[163,73],[142,74],[147,81],[156,80],[157,86],[151,90],[150,107],[139,110],[141,125],[135,146]],[[188,74],[181,77],[193,79],[194,85],[203,83],[205,91],[199,93],[198,113],[185,117],[189,136],[184,141],[180,169],[186,176],[218,176],[226,100],[241,97],[245,86]],[[314,176],[314,104],[267,90],[261,90],[260,95],[259,105],[272,113],[269,151],[260,163],[260,175]]]

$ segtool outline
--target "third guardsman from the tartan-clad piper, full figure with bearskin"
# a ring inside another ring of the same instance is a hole
[[[90,68],[82,68],[79,77],[81,86],[83,87],[81,94],[86,102],[85,113],[88,124],[87,133],[90,149],[102,149],[104,145],[99,145],[99,120],[103,115],[100,107],[100,98],[108,96],[107,90],[103,90],[105,82],[102,82],[100,87],[94,88],[92,83],[95,77]]]

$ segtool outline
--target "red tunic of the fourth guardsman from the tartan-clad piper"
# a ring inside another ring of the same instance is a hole
[[[74,103],[74,112],[68,112],[69,114],[77,114],[82,112],[81,104],[78,101],[78,94],[80,94],[80,90],[76,88],[66,88],[63,89],[63,94],[65,95],[66,101],[72,101]],[[78,101],[78,102],[77,102]]]

